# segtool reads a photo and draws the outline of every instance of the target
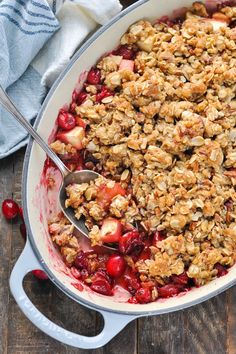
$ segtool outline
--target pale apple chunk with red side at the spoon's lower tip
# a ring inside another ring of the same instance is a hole
[[[101,240],[103,243],[119,242],[122,232],[121,222],[115,218],[104,219],[101,227]]]

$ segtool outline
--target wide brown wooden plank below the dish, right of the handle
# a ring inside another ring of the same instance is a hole
[[[226,294],[180,312],[139,320],[139,354],[227,352]]]

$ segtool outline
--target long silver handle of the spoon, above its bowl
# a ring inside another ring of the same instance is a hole
[[[63,164],[59,157],[50,149],[50,147],[45,143],[45,141],[38,135],[36,130],[32,125],[22,116],[22,114],[15,107],[13,102],[7,93],[0,86],[0,104],[27,130],[27,132],[34,138],[36,143],[38,143],[41,148],[46,152],[46,154],[52,159],[55,165],[59,168],[63,176],[68,175],[70,172],[68,168]]]

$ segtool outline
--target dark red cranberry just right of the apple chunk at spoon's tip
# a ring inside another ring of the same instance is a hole
[[[119,250],[123,254],[139,254],[143,248],[144,242],[138,231],[130,231],[120,237]]]

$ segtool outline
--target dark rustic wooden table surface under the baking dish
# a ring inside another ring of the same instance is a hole
[[[132,0],[123,1],[127,5]],[[24,149],[0,160],[0,202],[20,203]],[[10,294],[8,280],[24,241],[19,221],[0,215],[0,353],[1,354],[234,354],[236,353],[236,286],[192,308],[146,317],[130,323],[105,347],[80,350],[63,345],[34,327]],[[102,328],[101,316],[66,297],[50,281],[31,274],[24,286],[33,303],[51,320],[77,333],[93,336]]]

